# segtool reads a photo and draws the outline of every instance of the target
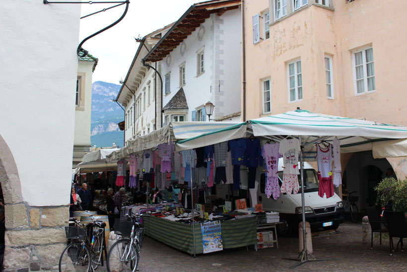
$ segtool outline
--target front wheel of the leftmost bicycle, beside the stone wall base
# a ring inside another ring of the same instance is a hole
[[[90,270],[90,251],[88,246],[81,242],[69,244],[61,254],[58,268],[60,272],[88,272]]]

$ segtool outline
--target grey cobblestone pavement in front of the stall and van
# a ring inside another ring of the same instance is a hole
[[[362,244],[361,223],[345,222],[338,228],[339,235],[313,238],[314,255],[324,262],[307,262],[296,271],[407,271],[407,252],[389,253],[389,238],[384,236],[379,246],[378,235],[373,250],[369,243]],[[154,239],[144,238],[139,269],[150,271],[292,271],[296,261],[282,258],[298,257],[298,237],[278,237],[277,249],[253,247],[227,249],[221,252],[200,254],[196,258],[168,247]],[[396,239],[395,239],[396,244]],[[98,269],[99,270],[99,269]]]

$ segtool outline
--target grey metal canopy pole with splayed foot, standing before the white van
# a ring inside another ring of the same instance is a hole
[[[300,156],[299,156],[299,160],[300,160],[300,172],[301,172],[301,207],[302,207],[302,243],[303,243],[303,249],[300,253],[300,255],[298,255],[297,259],[288,259],[288,258],[283,258],[285,260],[292,260],[292,261],[298,261],[300,262],[299,264],[291,267],[291,268],[296,268],[306,262],[317,262],[317,261],[332,261],[333,259],[317,259],[315,258],[314,255],[312,255],[308,249],[307,249],[307,233],[306,233],[306,226],[305,226],[305,198],[304,198],[304,165],[303,165],[303,149],[304,146],[302,145],[302,141],[301,141],[301,135],[298,136],[298,139],[300,141],[300,145],[301,145],[301,150],[300,150]],[[311,258],[311,259],[310,259]]]

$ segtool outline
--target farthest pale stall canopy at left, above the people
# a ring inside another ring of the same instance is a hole
[[[106,156],[120,148],[100,149],[83,156],[82,162],[77,165],[80,173],[92,173],[117,170],[116,163],[106,163]]]

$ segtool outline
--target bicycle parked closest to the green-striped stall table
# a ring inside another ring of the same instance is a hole
[[[137,270],[144,235],[144,227],[138,222],[142,216],[125,216],[128,220],[115,220],[115,234],[121,237],[112,245],[107,255],[108,272]]]

